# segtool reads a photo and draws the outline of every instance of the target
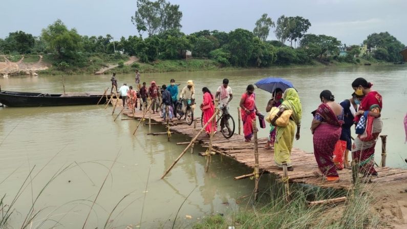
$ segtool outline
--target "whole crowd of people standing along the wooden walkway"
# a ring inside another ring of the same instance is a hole
[[[123,106],[129,109],[137,108],[137,98],[140,99],[140,110],[147,106],[147,99],[151,100],[152,112],[158,112],[161,104],[161,114],[168,115],[172,119],[175,115],[178,102],[182,102],[182,109],[190,106],[195,109],[195,87],[192,80],[186,82],[178,98],[178,86],[175,79],[170,80],[169,85],[156,85],[153,80],[148,88],[143,82],[140,87],[140,73],[136,72],[136,88],[138,93],[130,86],[123,84],[119,92],[123,98]],[[112,88],[117,88],[115,74],[112,76]],[[382,129],[380,112],[382,109],[381,95],[373,91],[372,84],[364,78],[357,78],[352,82],[354,90],[350,99],[340,103],[335,102],[335,96],[329,90],[319,94],[321,104],[312,112],[311,134],[313,135],[314,156],[318,164],[317,176],[324,177],[327,181],[339,179],[337,170],[350,169],[348,154],[352,152],[352,160],[363,176],[368,180],[371,176],[377,176],[374,169],[374,148],[377,138]],[[112,89],[113,90],[113,89]],[[213,95],[207,87],[202,88],[202,103],[200,109],[203,113],[203,123],[213,116],[215,112],[215,99],[223,112],[229,112],[229,102],[233,98],[229,80],[223,79]],[[255,102],[254,86],[248,85],[246,92],[242,94],[239,106],[243,122],[243,133],[246,142],[250,142],[253,136],[253,121],[256,116],[261,116]],[[288,88],[283,91],[280,88],[272,92],[272,98],[268,101],[266,112],[270,112],[268,120],[270,131],[266,149],[274,151],[274,161],[279,168],[287,165],[289,171],[293,171],[291,162],[291,150],[293,141],[300,138],[302,105],[296,89]],[[168,112],[168,114],[166,114]],[[217,125],[209,123],[206,133],[217,131]],[[352,144],[352,127],[355,127],[357,137]]]

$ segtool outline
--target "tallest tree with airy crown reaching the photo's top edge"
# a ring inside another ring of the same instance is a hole
[[[181,18],[179,5],[171,5],[165,0],[137,0],[137,10],[132,16],[132,23],[140,35],[147,31],[148,36],[152,36],[169,29],[180,29]]]

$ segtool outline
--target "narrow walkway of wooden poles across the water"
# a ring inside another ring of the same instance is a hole
[[[125,112],[123,112],[123,114],[129,117],[133,117],[132,112],[129,110],[126,110]],[[140,119],[141,117],[142,112],[136,110],[133,118]],[[148,113],[146,115],[146,120],[147,118]],[[158,113],[151,114],[151,119],[152,121],[165,125],[165,122]],[[238,127],[238,123],[236,123],[236,127]],[[172,123],[172,126],[170,127],[170,131],[186,135],[190,138],[194,137],[194,130],[192,129],[193,124],[191,126],[188,126],[184,120],[178,120],[176,118],[174,119],[174,123]],[[201,121],[197,121],[197,128],[195,132],[197,133],[199,130],[201,130]],[[235,133],[237,132],[238,130],[235,130]],[[198,141],[203,147],[208,147],[209,137],[206,136],[205,133],[202,133],[198,137]],[[283,171],[274,164],[274,152],[263,147],[266,141],[267,138],[259,138],[258,140],[260,171],[274,173],[277,176],[282,177]],[[213,151],[215,151],[216,153],[243,163],[254,170],[254,143],[246,143],[244,141],[243,135],[234,134],[231,138],[225,139],[221,133],[217,133],[213,138],[212,147]],[[315,176],[314,172],[318,171],[318,167],[313,153],[307,153],[303,150],[294,148],[292,149],[291,153],[291,161],[294,167],[294,171],[288,172],[290,182],[305,183],[317,185],[322,188],[333,189],[349,189],[352,186],[352,172],[348,169],[338,171],[340,178],[339,182],[327,182],[322,178]],[[372,178],[372,184],[407,182],[407,170],[388,167],[377,167],[376,170],[379,176],[377,178]]]

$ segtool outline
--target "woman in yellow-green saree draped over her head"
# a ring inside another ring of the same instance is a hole
[[[286,127],[279,127],[275,124],[275,120],[280,117],[285,110],[291,110],[292,114]],[[271,124],[276,127],[275,142],[274,142],[274,162],[280,169],[283,168],[283,163],[287,164],[288,171],[293,171],[291,164],[291,150],[294,141],[295,126],[297,133],[295,139],[299,139],[299,130],[301,128],[301,118],[303,116],[301,100],[298,93],[293,88],[288,88],[284,91],[283,102],[280,106],[280,111],[271,120]]]

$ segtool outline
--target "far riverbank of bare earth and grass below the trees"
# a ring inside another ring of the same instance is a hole
[[[141,73],[159,73],[159,72],[192,72],[192,71],[228,71],[241,69],[259,69],[259,68],[242,68],[242,67],[224,67],[217,61],[211,59],[183,59],[183,60],[156,60],[152,63],[140,63],[130,61],[137,57],[128,57],[126,55],[93,55],[83,60],[83,66],[72,66],[68,63],[57,63],[51,54],[44,55],[15,55],[3,56],[4,61],[0,61],[0,75],[81,75],[111,74],[113,72],[126,74],[134,73],[138,69]],[[287,68],[325,68],[331,66],[351,67],[363,65],[388,65],[392,63],[380,62],[375,59],[367,60],[357,58],[355,63],[339,62],[331,60],[322,62],[312,60],[307,65],[273,65],[262,69],[287,69]],[[127,64],[130,63],[130,64]]]

